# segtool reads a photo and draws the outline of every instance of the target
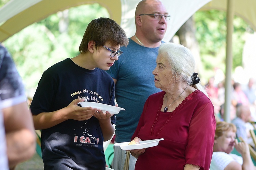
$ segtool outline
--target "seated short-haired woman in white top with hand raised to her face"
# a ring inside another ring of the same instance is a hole
[[[239,142],[236,138],[237,128],[232,123],[217,122],[211,170],[253,170],[253,165],[248,144]],[[232,154],[234,147],[242,155]]]

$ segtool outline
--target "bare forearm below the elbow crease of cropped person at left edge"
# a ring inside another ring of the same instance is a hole
[[[33,156],[35,134],[28,129],[6,133],[7,155],[10,168]]]

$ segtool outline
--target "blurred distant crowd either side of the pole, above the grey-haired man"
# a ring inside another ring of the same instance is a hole
[[[223,120],[225,102],[225,81],[216,83],[215,77],[211,77],[205,84],[209,98],[214,105],[214,112],[218,121]],[[256,121],[256,84],[255,79],[250,78],[244,84],[232,80],[231,87],[230,120],[236,118],[239,105],[247,105],[251,111],[251,121]]]

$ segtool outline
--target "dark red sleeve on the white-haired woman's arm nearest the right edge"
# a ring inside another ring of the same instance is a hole
[[[186,147],[186,164],[198,165],[201,169],[209,169],[212,153],[216,121],[213,105],[205,102],[195,109],[189,128],[188,145]]]

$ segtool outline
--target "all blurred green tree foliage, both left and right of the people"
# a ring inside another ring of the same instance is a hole
[[[0,0],[0,7],[8,1],[10,0]],[[72,7],[68,11],[58,12],[33,23],[5,40],[3,44],[12,54],[26,88],[36,88],[42,73],[53,64],[78,55],[78,48],[88,23],[99,17],[109,17],[109,13],[98,3]],[[203,76],[212,76],[215,67],[225,71],[226,12],[200,11],[194,15],[194,20],[205,70]],[[233,23],[235,68],[242,66],[244,33],[252,32],[252,29],[239,17],[235,17]],[[66,30],[65,25],[68,26]]]

